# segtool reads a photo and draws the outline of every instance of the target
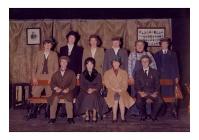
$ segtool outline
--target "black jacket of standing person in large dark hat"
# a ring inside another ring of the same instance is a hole
[[[68,56],[68,46],[63,46],[60,48],[60,56]],[[79,46],[74,46],[71,52],[70,62],[68,68],[73,70],[75,74],[80,74],[82,72],[82,56],[83,48]]]

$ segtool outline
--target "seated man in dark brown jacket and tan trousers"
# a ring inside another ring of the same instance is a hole
[[[60,98],[64,98],[67,112],[68,123],[75,123],[73,120],[73,90],[76,85],[75,73],[67,68],[69,58],[60,57],[60,69],[55,72],[51,79],[52,96],[48,99],[50,104],[50,121],[55,123],[57,105]]]

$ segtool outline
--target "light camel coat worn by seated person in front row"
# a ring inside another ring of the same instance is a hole
[[[128,88],[128,74],[125,70],[119,69],[117,76],[115,75],[113,69],[109,69],[104,73],[104,84],[108,89],[107,97],[105,98],[109,107],[113,107],[114,104],[114,94],[115,92],[112,90],[121,89],[122,92],[119,93],[120,98],[123,100],[125,107],[130,108],[134,103],[135,99],[129,96],[127,92]]]

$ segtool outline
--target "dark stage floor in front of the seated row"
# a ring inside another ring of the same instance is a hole
[[[169,113],[159,117],[159,120],[152,122],[139,120],[139,117],[127,118],[127,123],[113,124],[111,121],[111,112],[107,114],[104,120],[98,120],[97,123],[86,123],[80,118],[75,118],[75,124],[67,124],[66,118],[59,117],[55,124],[48,124],[44,115],[38,116],[37,119],[25,120],[26,114],[24,109],[10,109],[9,130],[10,132],[189,132],[190,120],[189,113],[185,109],[180,110],[178,120],[172,118]]]

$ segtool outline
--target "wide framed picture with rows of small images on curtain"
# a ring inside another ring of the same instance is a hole
[[[161,38],[165,37],[165,28],[137,28],[137,39],[144,40],[150,47],[159,47]]]

